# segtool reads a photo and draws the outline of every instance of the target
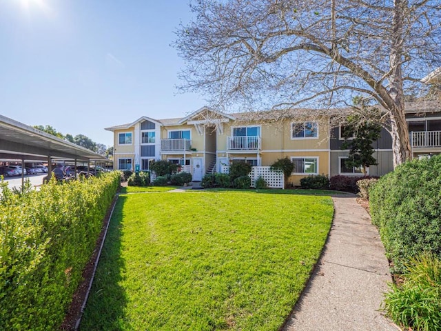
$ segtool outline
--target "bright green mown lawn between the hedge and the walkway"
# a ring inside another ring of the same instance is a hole
[[[121,195],[81,330],[278,330],[332,215],[329,197]]]

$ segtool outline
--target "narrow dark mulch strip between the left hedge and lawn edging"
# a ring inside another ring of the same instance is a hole
[[[98,239],[96,240],[95,249],[92,253],[92,256],[90,257],[88,264],[85,265],[85,268],[83,270],[83,282],[79,285],[79,287],[76,289],[76,292],[74,293],[69,310],[64,318],[63,323],[61,324],[60,330],[72,331],[76,330],[76,328],[79,326],[77,325],[77,323],[79,324],[79,320],[81,319],[81,315],[83,314],[81,310],[83,308],[83,303],[86,299],[86,295],[88,295],[90,282],[92,281],[92,277],[94,276],[95,263],[98,263],[98,261],[96,261],[96,257],[98,257],[101,243],[104,240],[105,229],[107,228],[107,224],[110,221],[112,208],[117,199],[118,196],[116,195],[112,201],[112,204],[110,205],[109,210],[107,210],[107,214],[105,214],[101,232]]]

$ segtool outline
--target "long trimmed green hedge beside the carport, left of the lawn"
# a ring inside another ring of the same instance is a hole
[[[121,174],[0,190],[0,330],[59,328]]]

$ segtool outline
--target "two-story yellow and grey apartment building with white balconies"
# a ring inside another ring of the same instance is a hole
[[[342,110],[343,111],[343,110]],[[342,150],[342,127],[331,128],[329,116],[305,118],[308,110],[224,114],[203,107],[187,117],[141,117],[114,132],[114,168],[149,170],[154,160],[178,163],[201,181],[209,172],[221,172],[233,161],[271,165],[288,157],[295,170],[289,181],[298,185],[309,174],[360,175],[347,168],[349,150]],[[441,108],[436,101],[409,103],[406,110],[414,157],[441,152]],[[382,129],[373,143],[378,165],[369,174],[381,176],[393,170],[392,139]]]

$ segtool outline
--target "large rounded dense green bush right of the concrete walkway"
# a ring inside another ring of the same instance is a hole
[[[441,155],[413,160],[381,177],[369,192],[372,221],[378,226],[393,271],[420,252],[441,257]]]

